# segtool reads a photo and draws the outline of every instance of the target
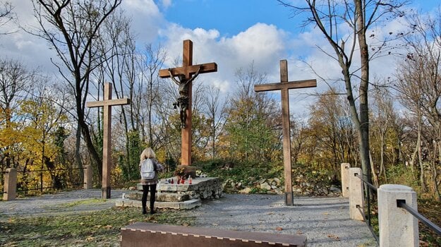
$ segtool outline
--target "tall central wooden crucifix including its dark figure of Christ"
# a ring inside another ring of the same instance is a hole
[[[171,78],[179,85],[179,98],[174,107],[181,109],[181,164],[191,165],[191,88],[200,73],[217,71],[216,63],[193,65],[193,42],[183,41],[182,67],[159,70],[159,77]],[[176,77],[178,79],[176,79]]]

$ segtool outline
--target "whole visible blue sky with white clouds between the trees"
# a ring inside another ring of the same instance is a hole
[[[35,25],[30,0],[9,1],[16,6],[21,25]],[[408,7],[427,13],[439,4],[440,0],[420,0]],[[132,30],[138,37],[140,49],[147,43],[159,42],[167,49],[169,60],[165,67],[172,66],[171,61],[181,57],[183,40],[193,40],[194,63],[215,61],[218,64],[217,73],[201,75],[198,81],[220,88],[224,95],[234,92],[237,69],[246,69],[251,63],[257,71],[267,75],[267,83],[279,81],[281,59],[288,60],[289,80],[319,79],[319,76],[329,80],[341,78],[337,62],[320,51],[332,53],[322,34],[312,27],[301,28],[301,18],[291,18],[289,9],[275,0],[123,0],[121,8],[133,19]],[[377,37],[401,25],[387,23],[377,30]],[[56,56],[47,44],[20,30],[0,37],[0,53],[23,61],[30,68],[39,67],[47,73],[56,71],[50,63]],[[390,76],[396,62],[393,56],[373,61],[370,66],[373,76]],[[291,90],[291,111],[301,114],[314,100],[307,95],[324,90],[327,84],[321,80],[318,80],[318,88]],[[278,93],[272,95],[277,97]]]

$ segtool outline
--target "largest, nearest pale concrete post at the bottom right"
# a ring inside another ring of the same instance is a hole
[[[377,192],[380,246],[418,246],[418,219],[397,207],[397,200],[404,200],[417,210],[415,191],[408,186],[383,184]]]

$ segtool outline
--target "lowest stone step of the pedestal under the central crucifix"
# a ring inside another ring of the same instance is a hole
[[[190,210],[195,207],[202,205],[200,199],[191,199],[183,202],[155,202],[155,207],[157,208],[171,208],[175,210]],[[131,200],[127,198],[116,199],[117,207],[143,207],[140,200]],[[149,201],[147,200],[147,207],[149,206]]]

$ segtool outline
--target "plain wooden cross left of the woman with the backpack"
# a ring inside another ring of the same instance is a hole
[[[111,100],[111,84],[104,84],[104,100],[87,102],[86,107],[103,107],[103,138],[102,138],[102,198],[110,198],[111,171],[111,106],[130,104],[130,99]]]

